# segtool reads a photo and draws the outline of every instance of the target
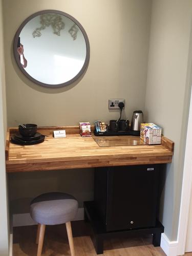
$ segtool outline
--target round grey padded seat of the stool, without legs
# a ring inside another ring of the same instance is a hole
[[[31,202],[30,214],[34,221],[56,225],[74,220],[78,209],[77,200],[66,193],[42,194]]]

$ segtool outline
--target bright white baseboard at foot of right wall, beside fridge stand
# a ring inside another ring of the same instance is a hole
[[[161,234],[161,248],[167,256],[177,256],[178,241],[169,241],[166,234]]]

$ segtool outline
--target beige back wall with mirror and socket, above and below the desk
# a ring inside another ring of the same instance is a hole
[[[12,50],[16,30],[29,15],[45,9],[71,14],[88,34],[90,63],[76,85],[43,88],[28,80],[16,65]],[[125,98],[124,117],[143,110],[151,0],[6,0],[4,13],[9,126],[15,126],[15,120],[38,125],[108,121],[119,117],[118,111],[108,110],[108,99],[114,97]],[[51,190],[72,193],[81,207],[82,201],[93,199],[93,176],[93,169],[10,174],[12,211],[29,211],[31,198]]]

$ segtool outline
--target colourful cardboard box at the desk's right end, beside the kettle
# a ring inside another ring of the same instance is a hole
[[[141,123],[140,138],[147,144],[161,144],[161,130],[154,123]]]

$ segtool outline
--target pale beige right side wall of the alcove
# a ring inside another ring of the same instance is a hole
[[[161,125],[164,135],[175,142],[173,163],[165,172],[160,214],[170,241],[177,240],[180,209],[190,95],[191,10],[190,0],[154,0],[152,6],[145,113],[148,121]]]

